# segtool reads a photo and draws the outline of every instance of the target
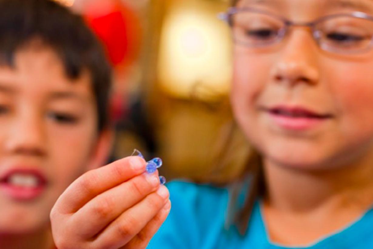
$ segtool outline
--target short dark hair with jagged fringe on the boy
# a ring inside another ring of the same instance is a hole
[[[101,131],[109,119],[111,69],[83,18],[52,0],[0,0],[0,13],[0,65],[13,67],[15,53],[40,40],[57,53],[70,79],[75,80],[87,70],[97,105],[97,128]]]

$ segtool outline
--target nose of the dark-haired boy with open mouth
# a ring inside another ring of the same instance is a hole
[[[33,115],[15,119],[6,140],[5,146],[8,153],[28,156],[46,154],[45,128],[43,122],[38,119]]]

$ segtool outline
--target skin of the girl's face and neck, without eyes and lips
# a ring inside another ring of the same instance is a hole
[[[372,1],[242,0],[295,22],[364,10]],[[263,214],[273,242],[304,246],[343,229],[373,205],[373,51],[320,50],[307,28],[271,49],[234,47],[235,118],[264,159]],[[300,105],[332,118],[305,131],[279,128],[261,111]]]

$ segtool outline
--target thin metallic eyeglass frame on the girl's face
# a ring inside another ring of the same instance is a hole
[[[233,16],[235,14],[238,14],[238,13],[241,13],[241,12],[254,12],[254,13],[259,13],[259,14],[272,16],[273,18],[278,19],[279,21],[283,22],[283,24],[284,24],[284,26],[278,32],[276,40],[263,42],[260,45],[252,46],[252,47],[264,47],[266,45],[276,44],[276,43],[282,41],[283,38],[285,38],[286,32],[291,27],[308,27],[308,28],[311,29],[312,37],[316,41],[316,43],[320,47],[320,49],[325,50],[325,51],[329,51],[329,52],[333,52],[332,50],[327,50],[320,45],[321,35],[320,35],[320,31],[316,29],[317,24],[319,24],[320,22],[326,21],[328,19],[341,17],[341,16],[349,16],[349,17],[354,17],[354,18],[360,18],[360,19],[364,19],[364,20],[367,20],[367,21],[372,21],[372,24],[373,24],[373,16],[371,16],[367,13],[364,13],[364,12],[360,12],[360,11],[354,11],[354,12],[351,12],[351,13],[332,14],[332,15],[327,15],[327,16],[323,16],[321,18],[318,18],[318,19],[314,20],[313,22],[303,22],[303,23],[299,22],[299,23],[297,23],[297,22],[292,22],[292,21],[284,18],[283,16],[276,15],[276,14],[268,12],[266,10],[261,10],[261,9],[257,9],[257,8],[254,8],[254,7],[244,7],[244,8],[230,7],[226,12],[219,13],[218,18],[222,21],[225,21],[230,27],[233,27],[233,22],[232,22],[231,16]],[[235,40],[235,42],[237,42],[237,41]],[[248,44],[243,43],[243,42],[241,42],[241,44],[248,46]],[[346,52],[345,54],[357,54],[357,53],[367,52],[368,50],[372,49],[372,47],[373,47],[373,34],[372,34],[372,37],[370,39],[370,43],[366,48],[361,49],[361,50],[357,50],[357,51],[354,51],[354,52],[350,52],[350,53]],[[336,53],[338,53],[338,52],[336,52]]]

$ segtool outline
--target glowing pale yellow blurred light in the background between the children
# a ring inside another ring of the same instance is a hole
[[[211,8],[203,1],[191,2],[174,6],[164,19],[159,81],[162,90],[181,98],[191,97],[193,89],[202,85],[206,94],[198,97],[208,99],[229,90],[231,40],[229,29],[216,17],[216,3],[210,3]]]

